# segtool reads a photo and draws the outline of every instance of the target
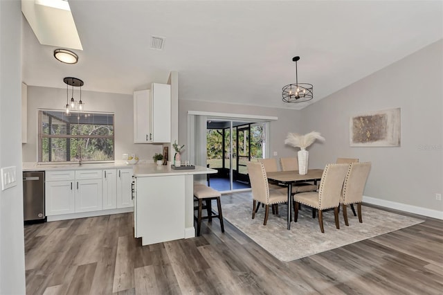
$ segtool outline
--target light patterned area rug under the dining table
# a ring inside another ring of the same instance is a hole
[[[286,205],[279,206],[278,215],[273,215],[269,210],[266,226],[263,225],[264,208],[260,208],[255,219],[252,219],[251,207],[252,202],[251,204],[223,205],[223,217],[283,262],[343,247],[424,222],[424,220],[362,206],[363,223],[359,223],[359,218],[354,217],[348,208],[347,216],[350,225],[345,226],[343,214],[340,213],[340,229],[335,227],[334,211],[324,212],[325,233],[321,233],[318,219],[312,218],[310,208],[303,207],[298,211],[298,222],[291,222],[291,230],[288,231]]]

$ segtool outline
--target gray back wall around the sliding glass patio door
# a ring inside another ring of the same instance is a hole
[[[277,109],[251,105],[232,105],[226,103],[204,102],[199,100],[179,100],[179,143],[188,140],[188,111],[208,111],[227,114],[246,114],[255,116],[275,116],[278,120],[271,121],[269,126],[269,157],[277,152],[280,157],[293,157],[296,150],[284,145],[287,132],[297,132],[300,127],[300,111],[293,109]],[[186,153],[185,157],[186,157]]]

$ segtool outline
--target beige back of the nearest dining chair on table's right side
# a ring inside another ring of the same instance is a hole
[[[350,164],[327,164],[318,187],[319,210],[335,208],[340,204],[341,190]]]

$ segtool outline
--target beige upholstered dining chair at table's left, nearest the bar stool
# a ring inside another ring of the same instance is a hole
[[[263,163],[260,162],[246,162],[248,168],[249,180],[251,181],[253,209],[252,218],[255,218],[256,202],[258,205],[264,204],[264,222],[266,225],[269,215],[269,205],[280,204],[287,202],[287,188],[278,188],[275,190],[269,189],[268,178],[266,177],[266,170]]]

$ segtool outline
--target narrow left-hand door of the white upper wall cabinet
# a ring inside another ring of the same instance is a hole
[[[134,143],[152,142],[150,90],[134,91]]]

